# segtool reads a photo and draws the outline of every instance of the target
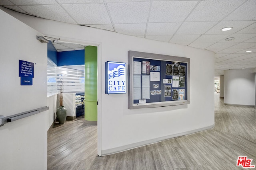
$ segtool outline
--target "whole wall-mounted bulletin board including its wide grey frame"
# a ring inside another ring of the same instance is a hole
[[[128,51],[128,108],[189,104],[189,61]]]

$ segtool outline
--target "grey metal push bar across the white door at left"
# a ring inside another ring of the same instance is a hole
[[[22,113],[18,113],[18,114],[15,114],[15,115],[10,115],[10,116],[7,116],[7,117],[4,117],[4,116],[0,115],[0,126],[3,126],[5,123],[8,123],[8,122],[16,121],[18,119],[22,119],[24,117],[28,117],[28,116],[46,111],[48,109],[49,109],[48,106],[44,106],[44,107],[40,107],[38,109],[33,109],[33,110],[30,110],[30,111],[24,111]]]

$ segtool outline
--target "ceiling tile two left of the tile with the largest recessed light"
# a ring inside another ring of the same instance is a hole
[[[181,23],[148,23],[147,35],[173,35]]]

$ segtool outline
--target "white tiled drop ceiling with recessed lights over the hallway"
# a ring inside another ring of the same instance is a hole
[[[256,0],[1,0],[0,5],[49,20],[214,51],[215,76],[228,69],[256,68]],[[224,27],[233,28],[221,31]],[[225,40],[230,37],[234,40]]]

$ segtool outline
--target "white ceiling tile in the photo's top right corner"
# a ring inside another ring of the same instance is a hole
[[[233,0],[232,0],[233,1]],[[245,4],[240,6],[230,15],[228,15],[224,20],[234,20],[234,21],[250,21],[256,20],[256,2],[255,0],[248,0]]]

